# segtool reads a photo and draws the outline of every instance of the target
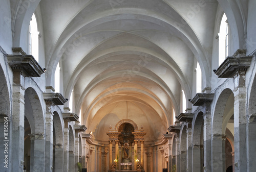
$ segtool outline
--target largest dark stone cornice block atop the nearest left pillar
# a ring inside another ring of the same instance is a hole
[[[32,55],[7,55],[7,59],[12,71],[24,77],[40,77],[45,72]]]

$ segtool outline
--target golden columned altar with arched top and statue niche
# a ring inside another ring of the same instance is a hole
[[[130,119],[120,120],[115,129],[110,130],[109,135],[109,170],[108,171],[145,171],[143,168],[143,131],[138,129],[134,121]],[[115,143],[115,159],[112,158],[112,142]],[[140,155],[138,155],[138,142],[140,142]],[[120,144],[120,146],[119,146]],[[140,159],[139,159],[140,157]]]

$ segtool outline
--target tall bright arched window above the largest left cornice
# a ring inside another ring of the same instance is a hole
[[[35,60],[38,62],[38,30],[35,14],[32,15],[32,18],[29,23],[29,54],[32,55]]]

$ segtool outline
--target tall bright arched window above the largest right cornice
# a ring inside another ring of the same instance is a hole
[[[219,35],[219,65],[228,56],[228,22],[226,14],[224,13],[221,19]]]

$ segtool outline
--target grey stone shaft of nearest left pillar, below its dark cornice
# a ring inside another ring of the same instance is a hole
[[[13,101],[13,111],[12,111],[12,135],[10,139],[12,140],[11,148],[12,154],[9,159],[8,164],[9,171],[23,171],[24,162],[24,119],[25,119],[25,88],[24,85],[24,76],[22,73],[13,72],[13,92],[12,92],[12,101]],[[9,144],[9,142],[8,142]],[[12,163],[10,163],[10,160]],[[3,165],[3,164],[2,164]],[[7,169],[7,168],[6,168]]]

